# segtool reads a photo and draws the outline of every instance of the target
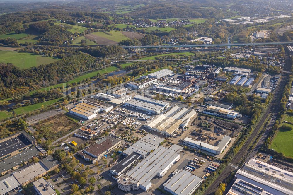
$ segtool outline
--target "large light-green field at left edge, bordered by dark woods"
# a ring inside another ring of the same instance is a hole
[[[54,61],[57,61],[57,59],[53,57],[35,55],[32,53],[18,51],[0,51],[0,62],[9,62],[23,69],[40,66],[41,64],[49,64]]]

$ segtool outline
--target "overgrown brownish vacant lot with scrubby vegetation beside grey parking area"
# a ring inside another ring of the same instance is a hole
[[[33,126],[46,140],[56,140],[78,127],[79,125],[74,120],[63,114],[50,117]]]

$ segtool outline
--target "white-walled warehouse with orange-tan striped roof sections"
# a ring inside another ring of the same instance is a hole
[[[86,120],[96,117],[96,113],[100,111],[109,112],[114,108],[113,105],[99,102],[93,98],[84,98],[79,102],[79,104],[74,105],[74,108],[69,110],[69,113]]]

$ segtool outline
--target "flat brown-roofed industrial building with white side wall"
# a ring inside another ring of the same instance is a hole
[[[103,155],[106,155],[114,148],[119,146],[121,143],[121,140],[117,138],[106,136],[91,145],[90,147],[81,150],[77,154],[81,156],[84,160],[95,163],[97,160],[100,160]]]

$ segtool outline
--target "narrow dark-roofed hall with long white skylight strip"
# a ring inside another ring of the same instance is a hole
[[[127,157],[125,157],[123,160],[121,160],[119,163],[114,165],[110,168],[110,173],[113,175],[121,175],[125,170],[127,170],[131,165],[133,165],[141,155],[137,153],[131,153]],[[115,178],[115,177],[114,177]]]

